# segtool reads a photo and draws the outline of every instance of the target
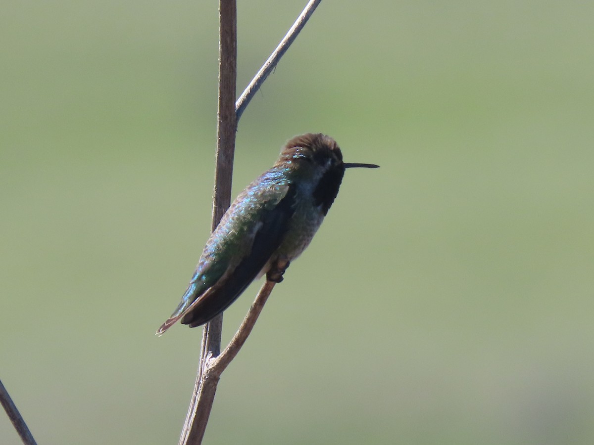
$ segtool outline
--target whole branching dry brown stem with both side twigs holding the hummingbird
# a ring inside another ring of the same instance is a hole
[[[293,40],[307,23],[321,0],[310,0],[297,18],[279,46],[270,55],[260,71],[255,75],[241,97],[235,103],[236,55],[237,55],[237,17],[236,1],[219,1],[220,40],[219,40],[219,121],[217,125],[217,156],[215,170],[213,225],[219,224],[230,205],[233,154],[235,151],[235,131],[237,122],[249,101],[258,91],[264,80],[285,54]],[[222,315],[204,326],[200,365],[198,366],[194,393],[185,419],[179,445],[202,443],[208,417],[213,406],[214,395],[220,374],[235,358],[244,345],[264,303],[274,288],[274,282],[266,281],[260,289],[244,322],[239,327],[225,351],[220,352]],[[220,354],[220,355],[219,355]]]

